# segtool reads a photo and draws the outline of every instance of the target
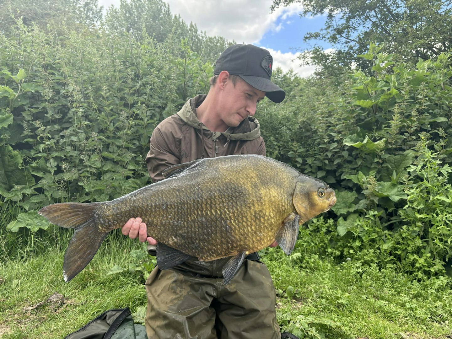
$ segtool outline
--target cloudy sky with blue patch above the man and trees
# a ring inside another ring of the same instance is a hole
[[[119,7],[119,0],[98,0],[104,10]],[[172,14],[180,14],[207,35],[221,35],[237,43],[252,43],[267,49],[273,65],[284,71],[292,68],[302,77],[314,72],[313,66],[300,66],[296,57],[310,48],[303,42],[306,32],[315,32],[325,24],[324,16],[300,18],[301,4],[277,8],[270,13],[272,0],[166,0]],[[319,42],[325,49],[331,46]],[[294,60],[295,59],[295,60]]]

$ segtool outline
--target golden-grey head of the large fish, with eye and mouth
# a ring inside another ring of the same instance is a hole
[[[334,189],[322,180],[300,174],[292,195],[293,206],[300,216],[300,224],[328,211],[336,203]]]

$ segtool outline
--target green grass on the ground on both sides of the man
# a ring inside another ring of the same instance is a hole
[[[37,236],[33,245],[27,233],[1,232],[2,339],[62,338],[108,309],[128,306],[133,312],[146,305],[143,278],[128,271],[107,274],[115,264],[127,267],[133,261],[128,252],[140,249],[138,241],[118,232],[109,235],[91,263],[66,283],[62,262],[67,230]],[[15,249],[6,248],[11,237],[19,241]],[[301,338],[443,339],[452,334],[448,278],[418,282],[392,268],[338,264],[296,251],[287,257],[280,249],[263,252],[278,293],[282,330]],[[54,292],[64,298],[42,303]]]

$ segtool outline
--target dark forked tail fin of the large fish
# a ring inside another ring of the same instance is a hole
[[[75,228],[64,255],[63,276],[68,282],[93,259],[108,232],[96,226],[94,211],[101,202],[62,202],[42,207],[39,214],[52,224]]]

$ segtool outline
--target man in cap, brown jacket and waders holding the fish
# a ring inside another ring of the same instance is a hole
[[[253,117],[256,105],[265,96],[280,103],[286,95],[270,81],[272,68],[270,53],[253,45],[233,45],[221,53],[208,94],[189,99],[155,127],[146,156],[151,178],[161,180],[169,166],[205,157],[265,155]],[[127,221],[122,233],[156,244],[141,218]],[[221,273],[227,259],[156,267],[146,281],[148,337],[281,338],[268,269],[257,254],[247,259],[227,285]]]

